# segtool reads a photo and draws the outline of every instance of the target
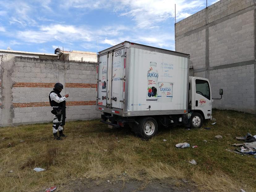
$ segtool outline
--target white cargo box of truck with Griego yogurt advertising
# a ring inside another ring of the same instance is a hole
[[[128,41],[99,52],[96,109],[123,117],[187,113],[189,60]]]

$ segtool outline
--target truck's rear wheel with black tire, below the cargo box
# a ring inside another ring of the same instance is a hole
[[[158,125],[153,117],[142,117],[139,120],[139,125],[134,126],[134,132],[138,137],[150,139],[156,135]]]

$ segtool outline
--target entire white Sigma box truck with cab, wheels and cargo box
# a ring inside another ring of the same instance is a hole
[[[158,126],[201,127],[211,119],[208,79],[189,77],[190,55],[125,41],[98,53],[101,122],[151,138]],[[223,90],[220,89],[222,97]]]

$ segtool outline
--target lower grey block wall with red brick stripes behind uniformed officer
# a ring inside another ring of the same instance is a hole
[[[49,92],[64,85],[67,120],[99,118],[96,64],[0,55],[0,125],[52,121]]]

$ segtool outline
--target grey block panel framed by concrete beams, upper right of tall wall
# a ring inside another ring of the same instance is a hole
[[[209,27],[210,67],[251,60],[254,60],[254,10]]]

